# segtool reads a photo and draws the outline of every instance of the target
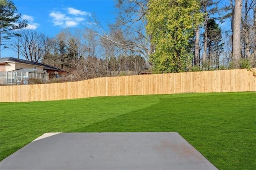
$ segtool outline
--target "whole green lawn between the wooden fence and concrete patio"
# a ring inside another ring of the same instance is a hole
[[[179,132],[219,169],[256,169],[256,93],[0,103],[0,160],[46,132]]]

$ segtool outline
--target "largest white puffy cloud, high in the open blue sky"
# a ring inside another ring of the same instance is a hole
[[[54,26],[61,26],[63,28],[65,27],[75,27],[81,24],[84,20],[86,20],[83,17],[80,16],[91,16],[89,12],[80,11],[75,8],[64,8],[67,13],[60,12],[60,11],[53,11],[49,14],[49,16],[52,18],[52,23]]]

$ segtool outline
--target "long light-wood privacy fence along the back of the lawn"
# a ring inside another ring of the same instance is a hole
[[[0,102],[52,101],[97,96],[256,91],[246,69],[100,77],[77,82],[0,86]]]

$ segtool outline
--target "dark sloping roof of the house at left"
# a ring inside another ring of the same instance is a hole
[[[16,62],[16,63],[30,64],[30,65],[38,65],[38,66],[44,67],[44,69],[46,69],[46,70],[53,70],[53,71],[59,71],[59,72],[64,71],[65,72],[65,70],[53,67],[52,65],[37,63],[34,61],[28,61],[25,59],[18,59],[18,58],[14,58],[14,57],[0,58],[0,63],[4,63],[4,62],[8,62],[8,61]]]

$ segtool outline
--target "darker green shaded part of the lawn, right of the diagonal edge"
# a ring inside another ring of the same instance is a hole
[[[255,158],[251,149],[254,108],[248,109],[248,103],[232,95],[211,96],[207,102],[200,96],[162,98],[150,107],[72,132],[179,132],[217,168],[227,168],[229,162],[228,168],[236,169],[238,164],[252,164]]]

